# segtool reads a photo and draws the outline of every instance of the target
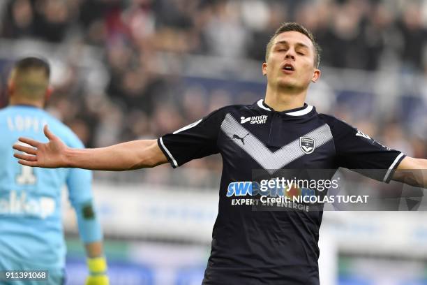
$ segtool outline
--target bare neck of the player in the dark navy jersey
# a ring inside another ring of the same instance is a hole
[[[277,112],[292,110],[304,106],[307,90],[302,92],[283,92],[283,90],[271,89],[267,85],[264,102]]]

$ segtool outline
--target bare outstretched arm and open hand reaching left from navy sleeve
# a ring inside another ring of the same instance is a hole
[[[24,166],[43,168],[84,168],[91,170],[133,170],[166,163],[165,154],[158,147],[157,140],[133,140],[110,147],[94,149],[73,149],[67,147],[47,126],[43,129],[49,142],[43,143],[30,138],[20,138],[31,147],[13,145],[24,153],[15,153]]]

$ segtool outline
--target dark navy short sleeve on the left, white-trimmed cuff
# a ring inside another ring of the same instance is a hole
[[[220,110],[158,138],[158,146],[173,168],[219,152],[217,140],[220,123],[224,117]]]

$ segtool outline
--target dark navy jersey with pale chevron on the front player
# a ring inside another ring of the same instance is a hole
[[[322,211],[254,211],[253,170],[385,169],[404,155],[313,106],[230,105],[158,139],[172,167],[220,153],[218,217],[203,284],[319,284]],[[247,188],[247,185],[249,185]]]

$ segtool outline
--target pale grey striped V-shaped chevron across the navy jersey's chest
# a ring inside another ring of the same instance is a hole
[[[239,122],[237,122],[230,114],[225,115],[225,119],[221,124],[221,130],[230,139],[235,138],[234,136],[239,136],[241,138],[247,136],[245,142],[243,142],[243,140],[233,140],[233,142],[239,145],[241,149],[247,152],[270,174],[275,173],[277,170],[280,170],[280,168],[283,168],[295,159],[299,159],[301,156],[306,155],[306,152],[301,150],[299,138],[287,145],[284,145],[276,152],[271,152],[264,143],[258,140],[258,138],[250,133],[250,131],[245,129],[244,126],[239,124]],[[329,129],[327,124],[323,124],[317,129],[306,133],[304,136],[313,138],[317,147],[320,147],[326,142],[329,142],[329,140],[332,140],[331,129]]]

